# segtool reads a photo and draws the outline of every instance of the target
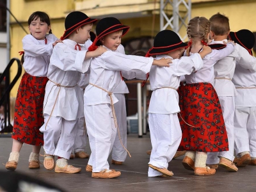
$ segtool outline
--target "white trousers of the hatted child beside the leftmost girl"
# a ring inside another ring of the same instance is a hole
[[[45,115],[45,124],[49,117]],[[45,124],[40,128],[44,132],[45,153],[69,159],[76,138],[77,120],[68,121],[61,116],[51,116],[46,129]]]

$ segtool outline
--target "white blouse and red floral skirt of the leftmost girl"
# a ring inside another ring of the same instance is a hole
[[[32,35],[22,39],[25,73],[20,81],[15,102],[12,138],[29,145],[44,145],[44,136],[39,131],[44,124],[43,104],[47,71],[56,36],[48,34],[44,40]]]

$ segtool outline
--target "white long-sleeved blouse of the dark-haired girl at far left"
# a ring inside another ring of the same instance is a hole
[[[37,40],[32,35],[22,39],[24,49],[23,67],[28,74],[36,77],[46,77],[52,54],[52,44],[58,39],[53,34],[47,34],[45,40]]]

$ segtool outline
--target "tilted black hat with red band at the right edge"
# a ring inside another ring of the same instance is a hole
[[[241,29],[237,32],[230,31],[229,39],[241,45],[252,55],[252,48],[255,44],[255,36],[248,29]]]

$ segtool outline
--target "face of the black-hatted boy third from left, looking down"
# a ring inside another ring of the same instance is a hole
[[[116,51],[117,47],[121,44],[123,31],[116,31],[104,36],[101,40],[102,45],[108,47],[111,51]]]

